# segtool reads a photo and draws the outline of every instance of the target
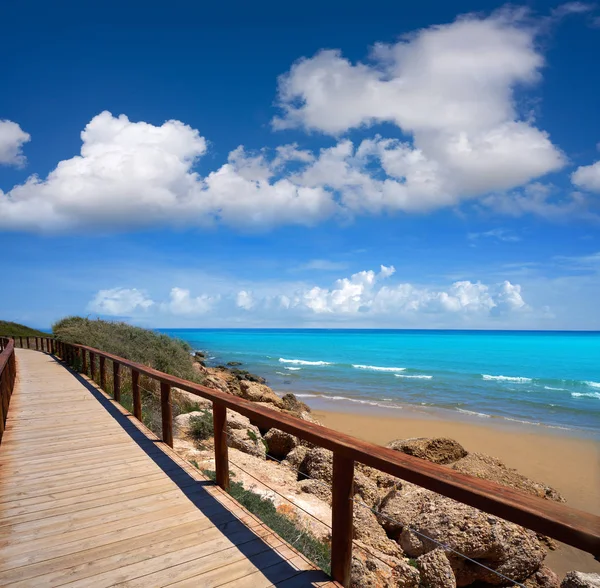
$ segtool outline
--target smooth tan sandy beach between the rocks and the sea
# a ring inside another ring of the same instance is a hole
[[[520,473],[563,494],[567,504],[600,515],[600,442],[564,431],[519,425],[479,425],[461,420],[388,416],[370,412],[313,411],[325,426],[385,445],[408,437],[450,437],[471,452],[501,459]],[[584,552],[560,546],[548,565],[559,576],[569,570],[600,572],[600,562]]]

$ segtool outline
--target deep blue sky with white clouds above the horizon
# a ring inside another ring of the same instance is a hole
[[[599,7],[202,4],[0,8],[0,318],[600,330]]]

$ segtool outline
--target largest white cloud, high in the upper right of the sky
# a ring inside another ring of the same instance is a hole
[[[427,210],[506,190],[560,169],[565,158],[547,133],[520,120],[514,90],[539,78],[544,60],[522,12],[468,16],[376,45],[371,64],[338,51],[302,59],[280,78],[283,114],[275,128],[338,135],[378,122],[413,142],[375,139],[400,210]],[[359,149],[360,150],[360,149]],[[400,187],[402,189],[400,189]],[[385,190],[370,200],[386,199]]]

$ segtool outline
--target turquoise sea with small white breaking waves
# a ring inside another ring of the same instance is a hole
[[[160,329],[328,410],[494,419],[600,437],[600,332]]]

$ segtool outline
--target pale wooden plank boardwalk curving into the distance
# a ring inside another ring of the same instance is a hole
[[[17,351],[0,586],[334,586],[87,378]]]

